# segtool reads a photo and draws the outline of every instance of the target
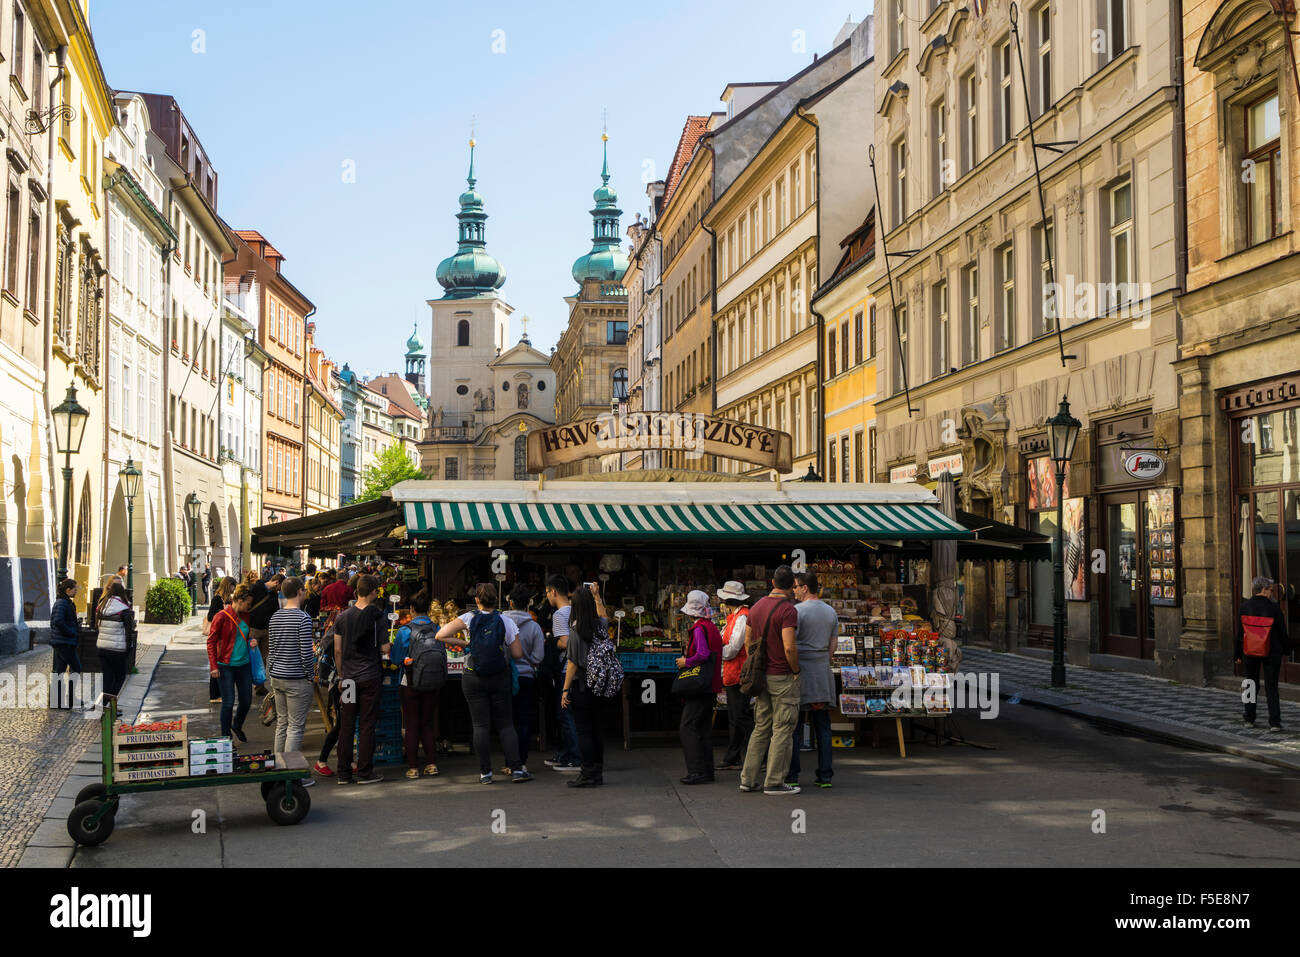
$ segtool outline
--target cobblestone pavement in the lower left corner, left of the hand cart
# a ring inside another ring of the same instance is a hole
[[[43,645],[0,662],[0,675],[48,675],[52,651]],[[13,867],[58,793],[73,765],[99,735],[99,722],[82,713],[0,707],[0,867]]]

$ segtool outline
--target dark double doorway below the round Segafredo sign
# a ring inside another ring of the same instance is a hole
[[[1102,547],[1101,651],[1124,658],[1156,657],[1150,603],[1145,492],[1119,492],[1101,499]]]

